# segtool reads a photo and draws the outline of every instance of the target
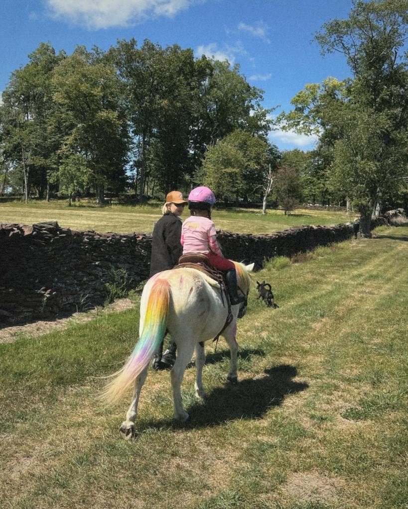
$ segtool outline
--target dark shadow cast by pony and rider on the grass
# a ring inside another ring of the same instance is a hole
[[[282,405],[287,394],[295,394],[309,387],[306,382],[293,381],[296,375],[295,366],[280,364],[265,370],[261,378],[247,378],[236,384],[226,383],[214,389],[204,403],[197,402],[187,407],[190,416],[187,422],[150,421],[146,423],[144,431],[169,425],[174,429],[199,429],[231,420],[260,418],[270,408]]]

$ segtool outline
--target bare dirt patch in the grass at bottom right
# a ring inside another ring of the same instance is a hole
[[[288,475],[282,491],[301,502],[333,501],[343,489],[344,481],[315,472],[295,472]]]

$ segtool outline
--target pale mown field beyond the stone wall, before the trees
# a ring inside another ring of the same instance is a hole
[[[185,210],[182,218],[189,215]],[[151,232],[161,216],[161,205],[112,205],[105,208],[82,206],[68,207],[66,202],[0,202],[0,223],[33,224],[57,220],[61,227],[72,230],[106,232]],[[216,228],[240,233],[269,233],[301,224],[337,224],[352,221],[355,216],[342,212],[297,209],[285,216],[282,210],[268,210],[265,216],[256,209],[214,210],[212,218]]]

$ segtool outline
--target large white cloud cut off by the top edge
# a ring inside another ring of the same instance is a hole
[[[155,16],[174,16],[196,0],[47,0],[52,16],[88,29],[126,26]]]

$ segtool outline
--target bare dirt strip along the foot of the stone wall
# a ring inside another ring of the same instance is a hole
[[[37,322],[25,325],[13,325],[0,329],[0,343],[13,343],[20,336],[36,337],[53,330],[62,330],[71,323],[82,323],[93,320],[101,313],[112,313],[124,311],[134,307],[134,302],[130,299],[118,299],[106,307],[95,307],[94,309],[84,313],[74,313],[66,318],[57,318],[55,320],[38,320]]]

